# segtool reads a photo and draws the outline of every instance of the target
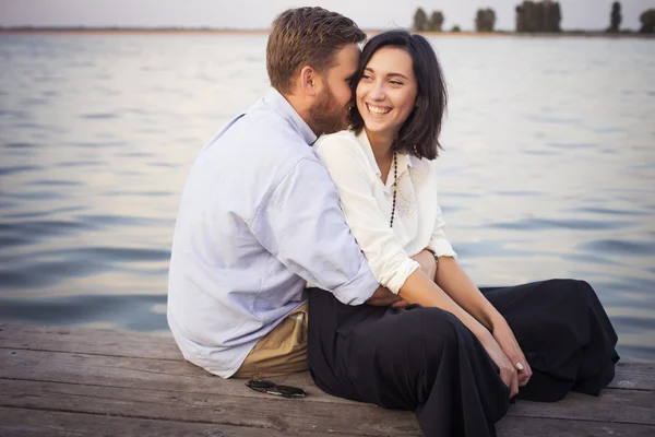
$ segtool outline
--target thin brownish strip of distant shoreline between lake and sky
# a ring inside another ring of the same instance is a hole
[[[364,29],[369,36],[385,29]],[[0,27],[2,34],[206,34],[206,35],[267,35],[269,28],[239,29],[239,28],[184,28],[184,27]],[[585,37],[585,38],[654,38],[655,34],[642,34],[633,31],[623,31],[611,34],[603,31],[563,31],[558,33],[517,33],[513,31],[497,32],[419,32],[430,37],[448,36],[478,36],[478,37]]]

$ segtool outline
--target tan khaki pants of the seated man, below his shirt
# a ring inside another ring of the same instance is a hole
[[[307,370],[307,304],[262,336],[233,378],[262,379]]]

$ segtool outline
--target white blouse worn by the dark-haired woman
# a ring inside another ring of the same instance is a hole
[[[398,153],[392,229],[393,166],[384,185],[366,131],[357,137],[349,131],[322,135],[313,149],[338,190],[350,232],[381,285],[397,294],[419,268],[409,257],[426,248],[439,257],[456,257],[437,204],[434,162]]]

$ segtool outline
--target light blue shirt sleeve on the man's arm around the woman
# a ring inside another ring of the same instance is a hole
[[[379,286],[318,161],[299,161],[262,200],[251,227],[279,262],[344,304],[364,304]]]

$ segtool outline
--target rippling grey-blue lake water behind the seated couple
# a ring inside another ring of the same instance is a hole
[[[0,322],[160,333],[189,166],[265,35],[0,35]],[[441,37],[440,204],[480,285],[588,281],[655,361],[655,40]]]

